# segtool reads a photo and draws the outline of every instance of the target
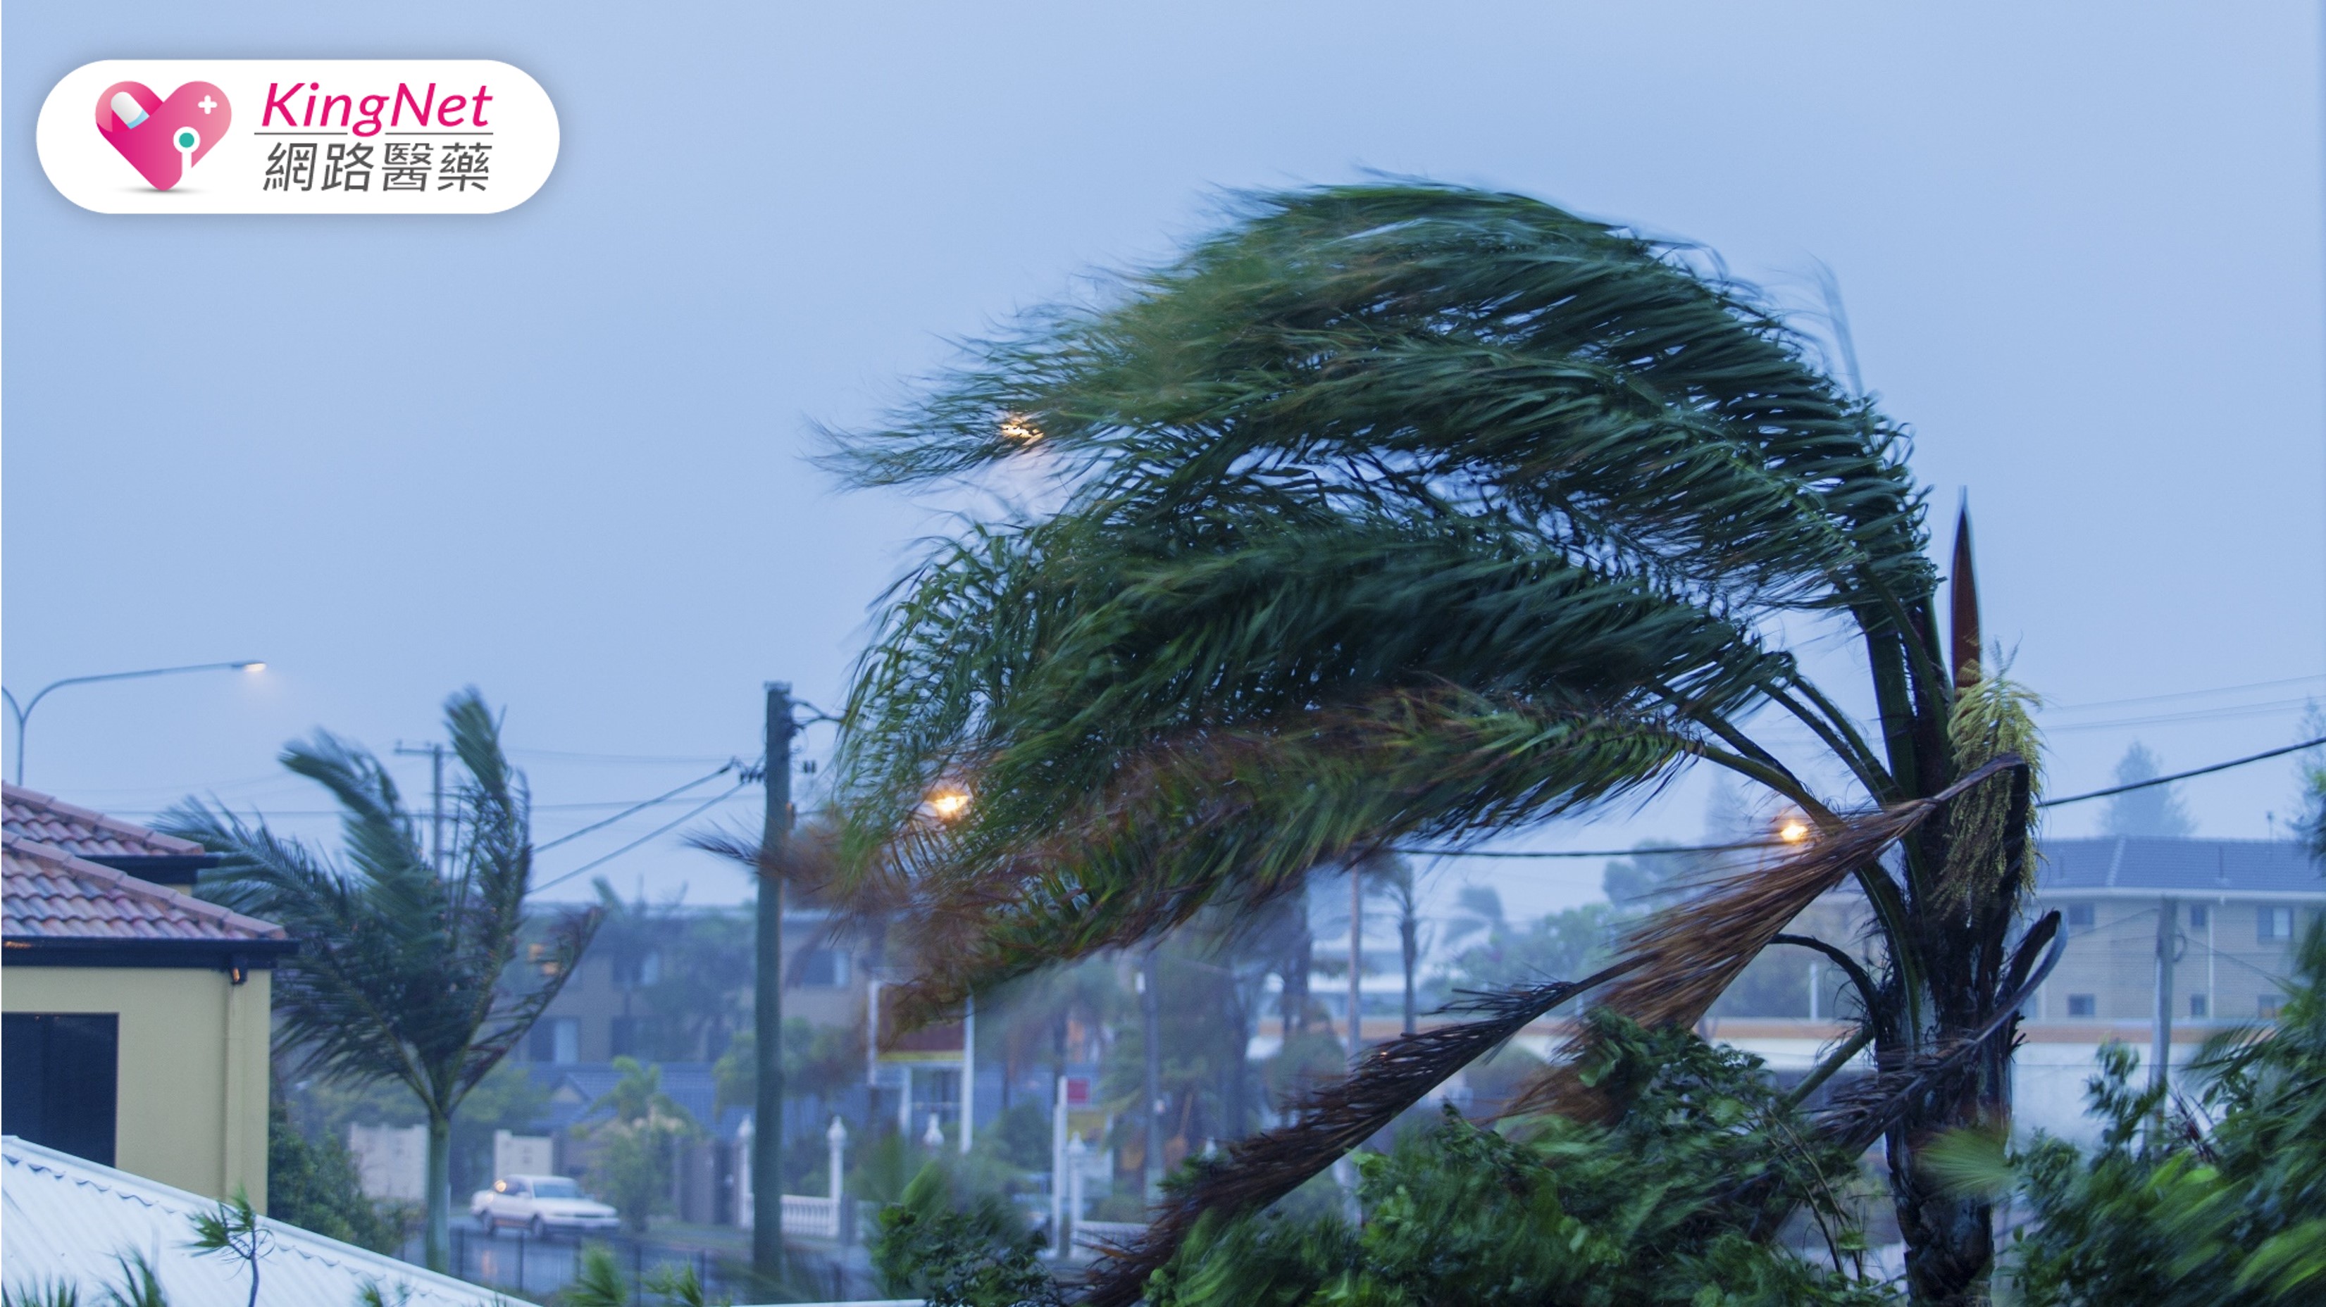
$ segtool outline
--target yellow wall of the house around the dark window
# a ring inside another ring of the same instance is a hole
[[[7,1012],[121,1016],[114,1165],[267,1209],[267,1021],[274,972],[198,967],[0,972]]]

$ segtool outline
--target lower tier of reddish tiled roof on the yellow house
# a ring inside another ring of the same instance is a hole
[[[281,940],[284,928],[63,849],[0,835],[9,940]]]

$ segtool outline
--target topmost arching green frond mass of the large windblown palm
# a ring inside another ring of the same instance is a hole
[[[830,463],[928,481],[1019,456],[1033,430],[1089,495],[1196,495],[1261,467],[1507,505],[1731,593],[1831,602],[1858,572],[1928,588],[1898,433],[1696,251],[1451,186],[1251,195],[1233,219],[1110,305],[977,342]]]

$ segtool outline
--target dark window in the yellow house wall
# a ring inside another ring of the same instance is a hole
[[[0,1028],[0,1133],[114,1165],[121,1016],[9,1012]]]

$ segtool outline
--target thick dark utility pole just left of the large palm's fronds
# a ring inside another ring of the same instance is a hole
[[[758,1098],[751,1114],[751,1277],[784,1284],[784,847],[791,840],[791,686],[768,681],[768,816],[758,837],[758,967],[751,977]]]

